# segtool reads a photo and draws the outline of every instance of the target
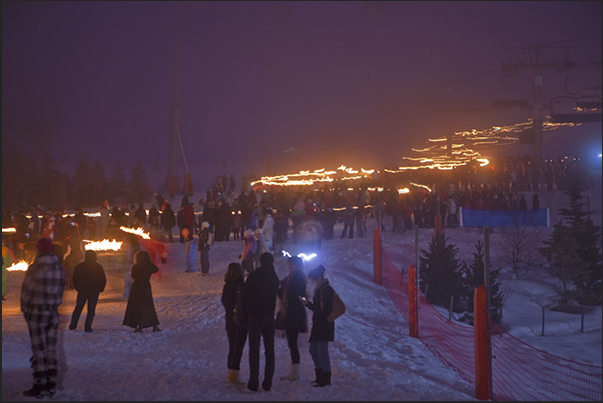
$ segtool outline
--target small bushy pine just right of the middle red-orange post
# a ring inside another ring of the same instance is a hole
[[[429,242],[429,252],[422,250],[419,257],[421,291],[432,305],[448,307],[454,297],[453,309],[458,310],[463,294],[461,263],[456,258],[458,248],[447,245],[444,233],[436,233]]]

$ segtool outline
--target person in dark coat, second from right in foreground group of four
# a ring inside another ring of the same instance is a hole
[[[291,353],[289,375],[281,377],[282,381],[296,381],[300,377],[300,354],[297,339],[300,333],[308,332],[306,308],[300,297],[306,296],[306,274],[304,261],[298,256],[287,259],[289,274],[281,281],[279,298],[284,312],[284,329],[287,334],[287,344]],[[277,318],[278,319],[278,318]]]

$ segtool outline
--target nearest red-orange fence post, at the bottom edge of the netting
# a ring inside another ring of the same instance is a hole
[[[475,343],[475,398],[492,399],[486,287],[475,289],[473,299],[473,335]]]

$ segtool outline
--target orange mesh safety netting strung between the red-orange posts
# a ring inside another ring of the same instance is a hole
[[[402,267],[407,267],[404,263]],[[390,298],[408,321],[408,279],[405,270],[394,265],[386,248],[381,249],[381,272]],[[449,321],[421,293],[418,322],[419,340],[465,381],[475,385],[473,327]],[[491,327],[493,400],[602,400],[601,367],[554,356],[495,324]]]

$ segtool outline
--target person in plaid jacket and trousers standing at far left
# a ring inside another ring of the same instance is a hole
[[[33,352],[30,358],[33,386],[23,392],[25,396],[41,398],[56,393],[58,309],[64,290],[65,270],[53,253],[52,241],[42,237],[36,242],[36,258],[27,268],[21,288],[21,312],[29,328]]]

